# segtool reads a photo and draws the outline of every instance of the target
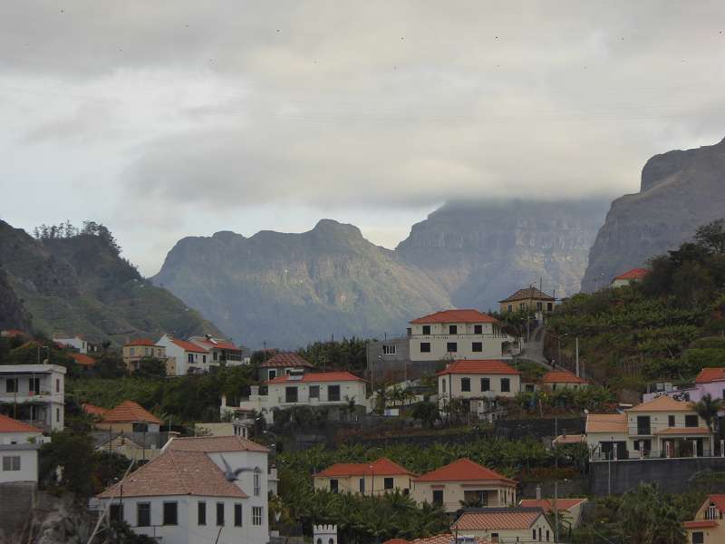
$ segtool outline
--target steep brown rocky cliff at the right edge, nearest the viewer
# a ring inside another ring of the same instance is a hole
[[[725,217],[725,140],[655,155],[642,170],[640,192],[614,200],[589,254],[582,288],[677,248],[699,226]]]

